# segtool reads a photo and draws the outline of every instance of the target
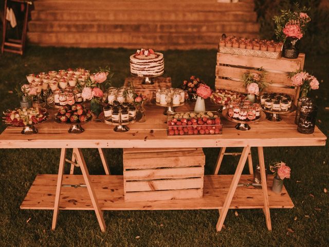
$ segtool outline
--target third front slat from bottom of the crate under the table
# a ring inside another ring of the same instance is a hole
[[[202,177],[204,166],[186,167],[186,168],[164,168],[164,169],[147,169],[147,170],[128,170],[124,171],[124,180],[142,180],[142,179],[185,179],[192,177]]]

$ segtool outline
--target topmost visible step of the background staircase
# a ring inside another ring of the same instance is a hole
[[[234,4],[217,3],[212,1],[68,1],[68,0],[53,0],[53,1],[35,1],[35,10],[175,10],[175,11],[253,11],[253,3],[238,2]],[[152,13],[149,13],[152,14]]]

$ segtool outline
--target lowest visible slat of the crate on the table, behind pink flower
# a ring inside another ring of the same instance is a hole
[[[219,77],[216,77],[215,87],[218,89],[232,90],[232,91],[236,91],[236,92],[240,92],[240,93],[244,93],[244,94],[247,93],[247,89],[243,85],[243,82],[241,82],[241,81],[233,81],[233,80],[221,79]],[[288,87],[278,87],[278,86],[267,85],[264,89],[264,92],[283,93],[283,94],[291,95],[293,98],[296,97],[296,89],[291,89]]]

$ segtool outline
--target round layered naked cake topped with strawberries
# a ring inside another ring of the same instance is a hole
[[[140,49],[130,56],[130,72],[135,76],[153,77],[165,72],[163,54],[153,49]]]

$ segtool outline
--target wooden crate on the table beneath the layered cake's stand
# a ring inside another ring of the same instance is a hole
[[[154,84],[152,85],[143,85],[143,80],[140,77],[127,77],[124,80],[124,86],[129,86],[133,83],[136,93],[141,93],[147,97],[146,104],[151,104],[152,100],[155,99],[155,91],[159,87],[171,87],[171,77],[156,77],[152,79],[154,80]]]

